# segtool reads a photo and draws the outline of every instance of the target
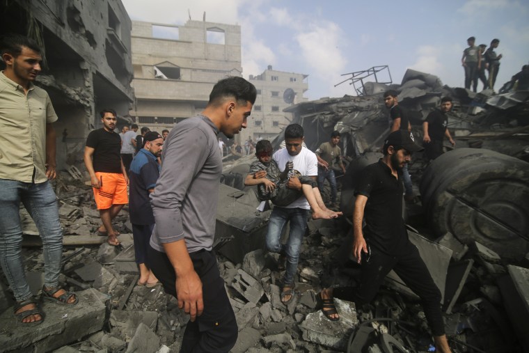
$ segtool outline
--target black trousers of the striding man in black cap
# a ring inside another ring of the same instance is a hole
[[[370,244],[369,240],[367,240]],[[420,297],[426,319],[434,336],[445,334],[441,313],[441,292],[429,274],[425,262],[420,258],[417,247],[408,240],[398,256],[390,256],[370,244],[371,256],[362,263],[360,285],[358,287],[339,287],[333,289],[333,297],[354,301],[357,305],[368,304],[379,290],[386,275],[393,269]]]

